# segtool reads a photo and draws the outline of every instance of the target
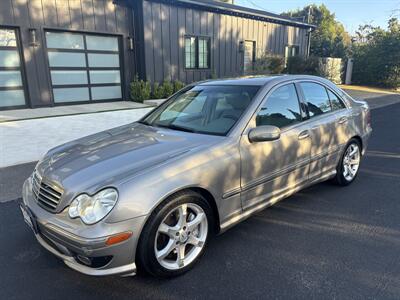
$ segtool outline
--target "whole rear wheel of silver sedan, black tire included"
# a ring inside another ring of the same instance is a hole
[[[355,151],[353,155],[351,153]],[[350,156],[349,156],[350,155]],[[353,164],[351,164],[353,162]],[[341,186],[347,186],[352,183],[357,175],[361,163],[361,145],[360,142],[352,138],[346,145],[342,157],[336,167],[336,177],[334,181]]]

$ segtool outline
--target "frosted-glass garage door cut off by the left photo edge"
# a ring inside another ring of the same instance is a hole
[[[16,30],[0,28],[0,108],[21,105],[25,92]]]

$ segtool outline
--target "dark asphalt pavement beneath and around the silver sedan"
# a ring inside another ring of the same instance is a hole
[[[400,104],[374,109],[372,123],[352,185],[321,183],[257,213],[172,280],[70,270],[18,210],[34,164],[0,169],[0,299],[399,299]]]

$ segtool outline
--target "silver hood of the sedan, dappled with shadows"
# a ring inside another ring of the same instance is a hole
[[[133,123],[56,147],[36,169],[72,197],[115,186],[139,171],[208,147],[218,138]]]

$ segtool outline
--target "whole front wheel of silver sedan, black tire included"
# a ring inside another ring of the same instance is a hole
[[[181,217],[185,210],[186,217]],[[189,271],[203,255],[213,225],[209,203],[196,192],[179,192],[163,201],[140,235],[139,271],[163,278]]]

